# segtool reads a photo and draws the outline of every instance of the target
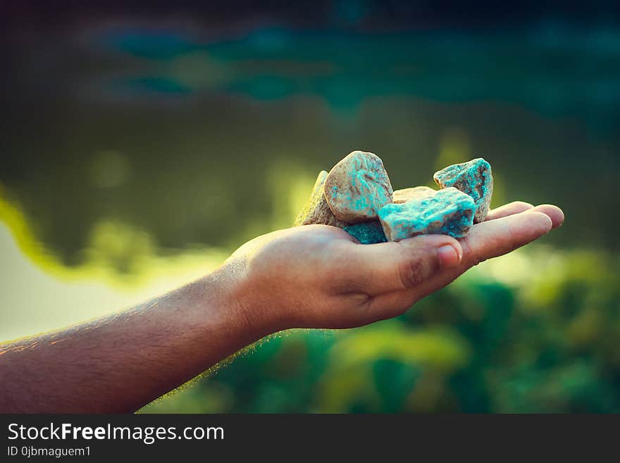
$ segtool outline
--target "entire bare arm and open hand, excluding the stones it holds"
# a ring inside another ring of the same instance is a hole
[[[135,412],[268,334],[402,314],[563,221],[556,206],[514,202],[460,240],[426,235],[360,245],[320,225],[268,233],[215,272],[154,300],[0,344],[0,412]]]

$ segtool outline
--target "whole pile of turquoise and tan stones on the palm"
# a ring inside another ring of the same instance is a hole
[[[354,151],[328,172],[318,173],[295,226],[320,223],[342,228],[362,244],[399,241],[416,235],[469,233],[487,216],[493,178],[482,158],[448,166],[433,175],[440,190],[392,190],[383,161]]]

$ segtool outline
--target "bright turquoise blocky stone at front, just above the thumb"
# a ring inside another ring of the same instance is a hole
[[[379,220],[390,241],[416,235],[443,234],[464,237],[473,224],[473,198],[453,187],[379,209]]]

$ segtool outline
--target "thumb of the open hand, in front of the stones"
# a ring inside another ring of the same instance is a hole
[[[460,243],[447,235],[421,235],[399,242],[354,247],[349,273],[368,295],[414,288],[435,273],[459,265]]]

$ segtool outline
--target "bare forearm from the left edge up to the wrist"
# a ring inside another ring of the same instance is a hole
[[[223,268],[146,304],[0,345],[0,412],[133,412],[268,334]]]

